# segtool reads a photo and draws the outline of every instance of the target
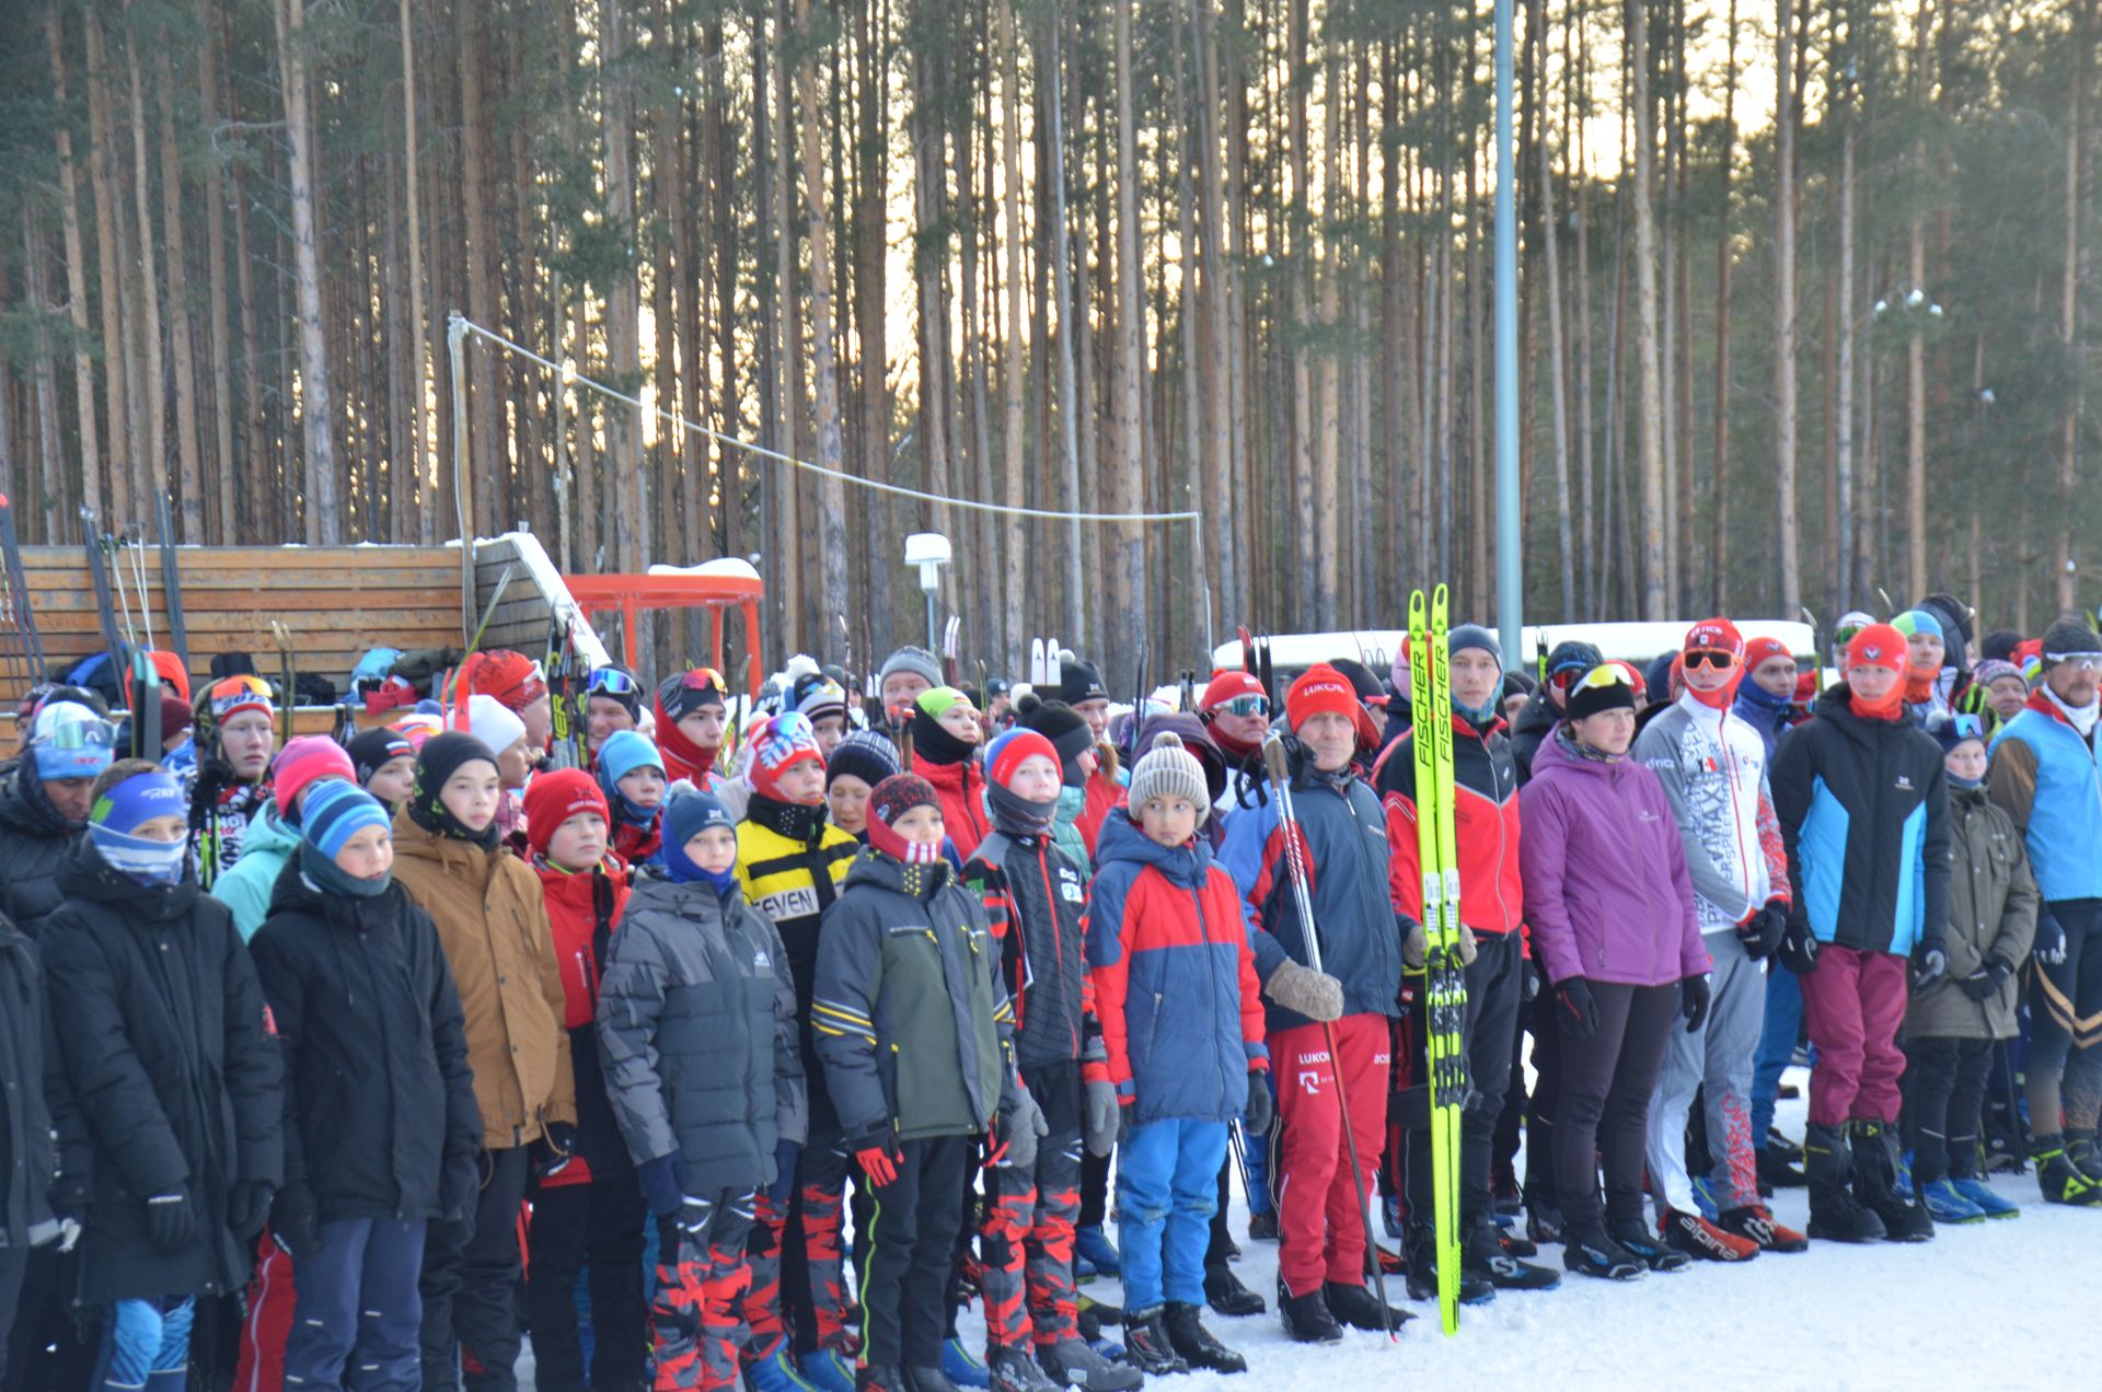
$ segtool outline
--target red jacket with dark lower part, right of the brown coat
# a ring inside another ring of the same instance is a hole
[[[576,1077],[576,1150],[570,1165],[544,1175],[540,1188],[591,1184],[597,1173],[628,1167],[614,1104],[605,1098],[599,1070],[599,978],[605,971],[614,929],[628,904],[628,868],[607,856],[591,875],[572,875],[544,860],[532,862],[540,877],[549,932],[555,936],[555,965],[561,967],[561,1024],[570,1030],[570,1072]]]

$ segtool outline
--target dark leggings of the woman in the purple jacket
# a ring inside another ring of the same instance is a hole
[[[1679,986],[1589,982],[1598,1030],[1562,1039],[1562,1110],[1555,1114],[1555,1192],[1566,1232],[1600,1222],[1598,1154],[1606,1165],[1606,1220],[1642,1222],[1642,1152],[1650,1093],[1665,1043],[1679,1022]]]

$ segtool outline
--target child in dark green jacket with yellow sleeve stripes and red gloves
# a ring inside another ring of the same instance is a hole
[[[1043,1114],[1013,1068],[1013,1007],[984,908],[942,858],[942,803],[895,774],[868,799],[868,849],[824,910],[818,1056],[881,1217],[866,1241],[862,1392],[940,1388],[944,1287],[975,1138],[1034,1169]],[[1211,1178],[1211,1171],[1204,1171]]]

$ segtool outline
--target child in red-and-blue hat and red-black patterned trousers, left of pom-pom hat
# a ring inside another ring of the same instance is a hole
[[[1116,1144],[1110,1083],[1087,971],[1087,889],[1051,841],[1059,761],[1034,730],[1009,730],[986,746],[986,810],[992,833],[963,866],[1001,953],[1001,976],[1017,1001],[1015,1062],[1045,1112],[1036,1167],[990,1175],[982,1234],[986,1365],[1003,1388],[1057,1384],[1139,1386],[1080,1339],[1072,1241],[1080,1215],[1080,1142],[1097,1154]],[[1038,1371],[1036,1363],[1043,1363]]]

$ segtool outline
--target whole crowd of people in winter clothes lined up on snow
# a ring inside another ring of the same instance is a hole
[[[2083,618],[1448,652],[1463,1302],[1919,1243],[2024,1163],[2102,1207]],[[158,763],[46,683],[0,770],[6,1388],[494,1390],[526,1337],[542,1390],[1139,1388],[1436,1297],[1406,654],[1112,715],[1070,654],[748,702],[481,652],[282,744],[156,667]]]

